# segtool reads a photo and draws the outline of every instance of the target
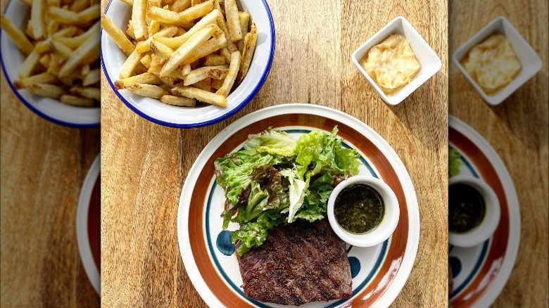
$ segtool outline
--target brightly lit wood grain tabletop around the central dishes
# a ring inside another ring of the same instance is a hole
[[[113,0],[119,1],[119,0]],[[107,0],[101,2],[104,11]],[[417,191],[417,259],[394,307],[447,304],[448,3],[446,1],[268,1],[277,34],[270,75],[229,120],[172,129],[139,117],[103,76],[101,95],[101,304],[206,307],[177,244],[179,193],[194,160],[227,124],[282,103],[343,110],[379,132]],[[442,59],[440,72],[398,106],[377,96],[351,53],[403,15]]]

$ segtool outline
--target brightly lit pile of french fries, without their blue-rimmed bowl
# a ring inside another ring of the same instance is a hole
[[[170,105],[227,106],[255,50],[250,14],[235,0],[122,1],[132,6],[126,32],[101,15],[101,27],[127,55],[116,89]]]

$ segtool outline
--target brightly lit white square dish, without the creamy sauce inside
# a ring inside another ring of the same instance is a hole
[[[384,41],[384,39],[389,37],[390,34],[403,34],[406,39],[410,41],[410,46],[412,47],[421,68],[419,68],[419,72],[417,72],[417,75],[415,75],[412,79],[412,82],[406,84],[400,90],[388,96],[381,90],[374,79],[368,75],[364,68],[362,68],[359,61],[366,56],[367,52],[370,51],[373,46],[381,43],[381,41]],[[438,72],[442,66],[441,59],[438,58],[434,50],[431,49],[431,46],[429,46],[427,41],[419,35],[417,30],[412,27],[408,20],[402,16],[391,20],[390,23],[374,34],[373,37],[368,39],[364,44],[362,44],[362,46],[358,47],[358,49],[353,52],[351,60],[362,75],[366,77],[367,81],[370,82],[372,87],[374,87],[377,94],[379,94],[379,96],[381,96],[381,98],[383,98],[383,100],[389,105],[397,105],[402,102],[405,98],[412,94],[415,89],[419,88],[419,86],[426,82],[427,79],[435,75],[435,73]]]

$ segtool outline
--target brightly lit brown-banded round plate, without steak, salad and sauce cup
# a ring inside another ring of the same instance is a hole
[[[412,270],[419,240],[417,198],[403,163],[389,143],[355,117],[318,105],[288,104],[258,110],[223,129],[198,156],[183,186],[177,213],[179,249],[194,287],[210,307],[284,307],[244,296],[230,233],[222,230],[225,195],[215,184],[214,160],[239,150],[248,134],[268,127],[298,137],[313,129],[329,133],[336,125],[344,146],[360,153],[360,174],[382,179],[396,193],[400,221],[384,243],[372,248],[348,246],[351,299],[303,307],[386,307],[400,293]]]

